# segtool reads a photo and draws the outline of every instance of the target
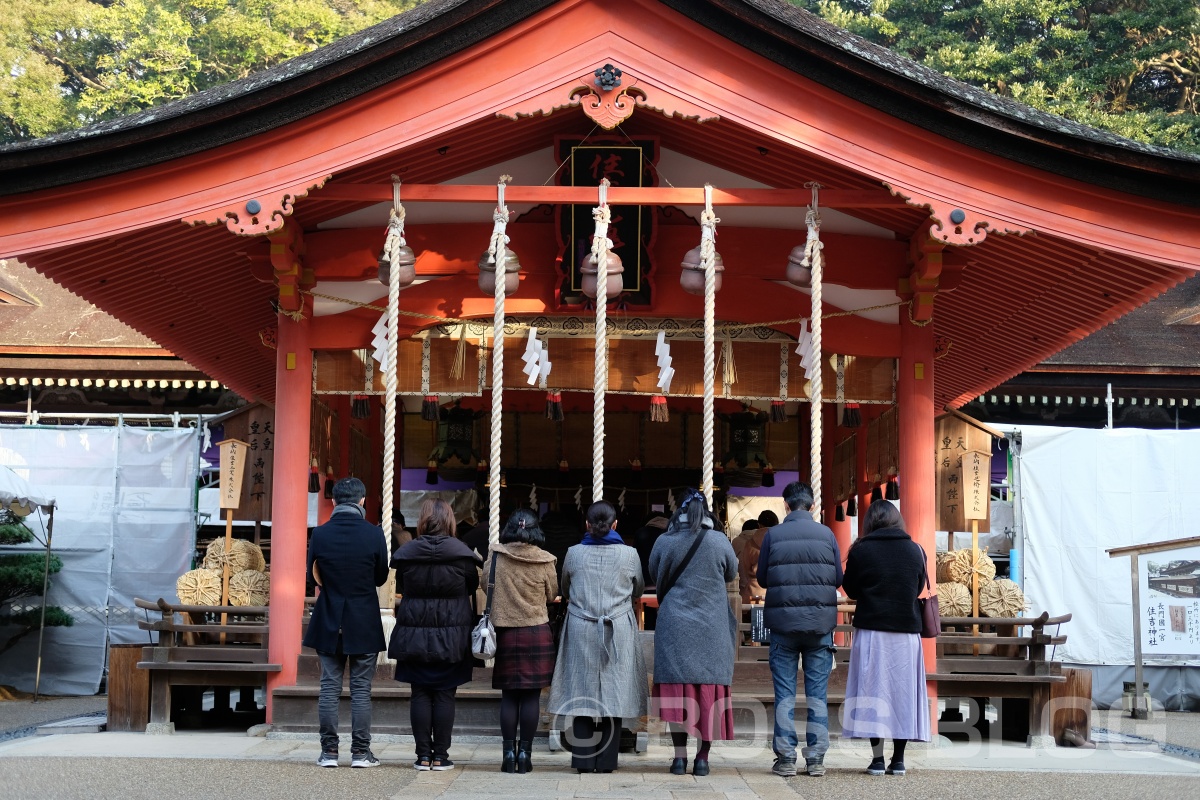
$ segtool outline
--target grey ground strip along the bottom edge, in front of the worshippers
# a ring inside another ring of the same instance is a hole
[[[788,781],[752,770],[714,769],[709,778],[671,777],[664,770],[638,765],[611,776],[580,776],[562,768],[529,776],[496,772],[494,765],[468,766],[454,772],[418,774],[406,765],[372,770],[322,770],[310,763],[270,760],[209,760],[151,758],[5,758],[0,778],[5,794],[22,800],[107,799],[196,800],[196,798],[376,798],[443,796],[476,800],[530,798],[662,798],[673,800],[925,800],[928,798],[1004,796],[1008,800],[1088,798],[1117,800],[1135,796],[1196,796],[1200,778],[1154,775],[1096,775],[1073,772],[985,772],[917,770],[907,777],[870,777],[835,769],[822,778]],[[197,790],[203,787],[203,790]],[[12,792],[12,794],[8,794]]]

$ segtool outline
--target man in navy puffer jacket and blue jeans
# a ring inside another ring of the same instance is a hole
[[[758,554],[758,584],[767,590],[764,622],[770,628],[770,676],[775,685],[773,750],[775,775],[796,775],[796,673],[804,662],[808,705],[804,762],[814,777],[824,775],[829,750],[826,687],[833,667],[833,628],[838,622],[841,554],[833,531],[812,519],[812,487],[784,487],[791,510],[767,531]]]

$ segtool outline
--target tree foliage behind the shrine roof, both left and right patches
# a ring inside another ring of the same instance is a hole
[[[242,78],[421,0],[5,0],[0,143]],[[791,0],[934,70],[1200,152],[1196,0]]]

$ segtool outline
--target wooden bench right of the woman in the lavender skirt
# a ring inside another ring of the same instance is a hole
[[[1026,742],[1048,746],[1058,738],[1050,708],[1054,687],[1067,684],[1067,675],[1061,663],[1046,658],[1046,648],[1064,644],[1067,637],[1045,628],[1069,620],[1070,614],[1050,616],[1046,612],[1040,616],[943,616],[937,670],[926,678],[937,681],[937,694],[943,698],[1027,700]],[[995,631],[979,631],[985,627]],[[1025,627],[1028,634],[1020,636]]]

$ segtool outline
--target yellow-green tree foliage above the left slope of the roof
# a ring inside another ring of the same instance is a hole
[[[0,142],[244,78],[420,0],[5,0]]]

